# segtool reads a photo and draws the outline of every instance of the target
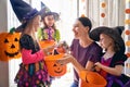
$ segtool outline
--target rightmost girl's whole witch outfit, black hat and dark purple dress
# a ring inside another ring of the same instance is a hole
[[[91,30],[90,37],[93,40],[99,41],[100,35],[105,34],[109,36],[115,42],[115,47],[114,47],[115,54],[107,60],[104,60],[104,58],[101,58],[101,63],[103,65],[106,65],[109,67],[115,67],[116,65],[123,66],[123,63],[127,60],[127,55],[125,54],[125,50],[126,50],[125,42],[123,42],[123,39],[121,38],[121,33],[123,29],[125,29],[123,26],[117,26],[113,28],[102,26],[102,27],[96,27],[93,30]],[[123,85],[129,79],[129,77],[126,76],[125,74],[121,74],[120,76],[115,76],[115,75],[106,73],[103,70],[101,70],[100,74],[104,76],[104,78],[106,78],[107,80],[106,87],[123,87]]]

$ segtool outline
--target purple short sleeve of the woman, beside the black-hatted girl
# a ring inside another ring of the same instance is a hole
[[[91,48],[91,50],[89,52],[90,52],[89,53],[90,55],[88,58],[89,61],[92,61],[94,63],[100,61],[101,55],[102,55],[102,48],[93,47],[93,48]]]

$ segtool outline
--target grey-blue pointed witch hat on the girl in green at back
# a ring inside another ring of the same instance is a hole
[[[43,2],[41,2],[41,17],[44,18],[47,15],[53,15],[55,21],[60,20],[60,14],[52,12]]]

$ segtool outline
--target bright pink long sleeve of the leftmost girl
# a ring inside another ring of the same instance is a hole
[[[30,64],[43,60],[44,54],[42,50],[39,50],[31,54],[31,50],[22,49],[22,61],[24,64]]]

